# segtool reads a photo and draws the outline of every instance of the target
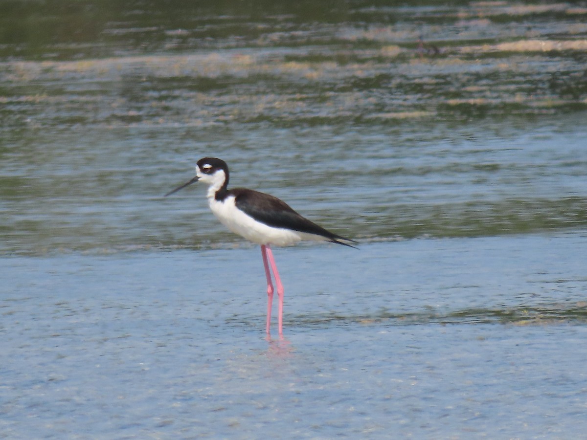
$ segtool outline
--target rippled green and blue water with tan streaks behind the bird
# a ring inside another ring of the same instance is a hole
[[[363,240],[584,227],[586,9],[317,8],[72,7],[96,29],[15,33],[2,252],[232,241],[160,199],[203,155]]]

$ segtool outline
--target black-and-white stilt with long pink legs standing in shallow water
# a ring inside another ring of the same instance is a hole
[[[232,232],[241,235],[253,243],[261,245],[261,255],[267,277],[267,326],[269,334],[271,324],[271,304],[273,302],[273,283],[269,265],[275,276],[277,296],[279,297],[278,326],[282,334],[282,317],[284,312],[284,286],[279,279],[279,272],[273,258],[271,245],[286,246],[301,240],[318,240],[338,243],[339,245],[355,246],[354,240],[336,235],[321,226],[302,217],[284,201],[269,194],[247,188],[228,189],[228,165],[225,161],[204,157],[195,165],[195,177],[180,185],[165,197],[187,187],[194,182],[207,183],[208,205],[218,220]]]

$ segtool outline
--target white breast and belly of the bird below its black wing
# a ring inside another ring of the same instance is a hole
[[[254,218],[237,209],[234,196],[223,201],[208,197],[210,209],[218,220],[232,232],[258,245],[286,246],[301,240],[323,240],[324,238],[308,233],[274,228],[255,221]]]

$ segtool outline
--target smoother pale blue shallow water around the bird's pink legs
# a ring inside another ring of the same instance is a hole
[[[586,244],[281,249],[269,340],[257,248],[2,259],[0,432],[577,438]]]

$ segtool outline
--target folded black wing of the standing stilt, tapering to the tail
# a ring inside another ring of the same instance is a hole
[[[244,188],[231,189],[230,192],[235,196],[235,204],[238,209],[265,225],[311,233],[322,236],[328,241],[338,243],[339,245],[350,246],[351,248],[355,247],[340,241],[344,240],[356,243],[354,240],[336,235],[322,228],[322,226],[316,225],[314,222],[299,215],[284,201],[272,195]]]

